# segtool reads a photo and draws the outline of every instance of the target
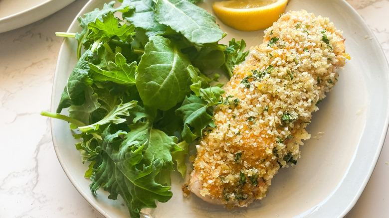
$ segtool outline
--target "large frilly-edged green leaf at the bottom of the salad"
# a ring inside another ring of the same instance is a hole
[[[176,146],[175,137],[153,129],[148,122],[130,128],[128,133],[119,130],[111,134],[109,127],[104,131],[104,152],[96,160],[90,189],[97,194],[103,186],[110,199],[122,196],[131,217],[139,218],[142,208],[155,208],[156,200],[167,202],[172,197],[170,184],[159,183],[157,177],[169,176],[164,172],[173,171],[171,152],[181,149]]]

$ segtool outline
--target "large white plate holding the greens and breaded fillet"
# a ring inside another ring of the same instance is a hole
[[[202,7],[210,10],[212,0]],[[104,0],[91,0],[80,14],[102,7]],[[362,194],[380,155],[389,120],[389,67],[374,34],[361,16],[344,0],[291,0],[287,10],[306,9],[315,15],[330,17],[344,31],[346,51],[352,56],[340,71],[339,82],[314,113],[307,129],[312,139],[302,146],[301,159],[275,176],[265,199],[249,209],[226,210],[203,202],[194,195],[182,195],[183,180],[173,174],[173,198],[158,203],[157,209],[145,210],[153,218],[335,218],[345,216]],[[226,40],[243,38],[249,46],[262,42],[263,31],[239,32],[223,24]],[[76,19],[69,32],[78,31]],[[76,41],[65,39],[58,58],[52,97],[55,111],[66,80],[76,63]],[[99,191],[94,197],[90,181],[83,177],[76,142],[68,123],[52,119],[52,136],[58,159],[80,194],[101,214],[111,218],[128,217],[123,201],[108,200]]]

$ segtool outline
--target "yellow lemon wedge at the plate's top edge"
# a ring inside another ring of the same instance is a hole
[[[242,31],[270,27],[285,12],[288,0],[222,0],[212,4],[225,25]]]

